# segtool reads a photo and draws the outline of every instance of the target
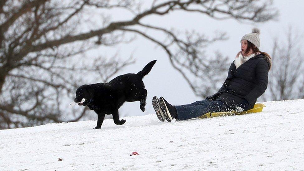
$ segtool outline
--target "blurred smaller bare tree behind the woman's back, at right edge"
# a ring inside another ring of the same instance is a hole
[[[286,40],[273,41],[272,69],[269,71],[268,89],[263,100],[290,100],[304,98],[303,34],[290,26]]]

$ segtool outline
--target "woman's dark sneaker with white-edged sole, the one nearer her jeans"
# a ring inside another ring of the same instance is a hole
[[[175,107],[169,104],[164,97],[159,98],[159,106],[168,122],[171,122],[173,118],[177,119],[177,111]]]

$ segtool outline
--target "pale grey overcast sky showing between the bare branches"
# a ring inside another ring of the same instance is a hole
[[[203,14],[186,12],[171,12],[163,17],[147,17],[142,20],[142,22],[145,24],[155,24],[165,28],[174,28],[175,30],[182,32],[185,30],[195,30],[210,35],[210,37],[212,37],[216,30],[226,31],[229,40],[209,46],[207,48],[207,54],[213,55],[215,50],[219,50],[223,55],[228,56],[229,60],[232,62],[236,53],[240,51],[241,37],[250,33],[254,27],[259,28],[261,32],[260,50],[269,53],[271,52],[273,45],[273,38],[278,37],[281,41],[286,40],[285,33],[288,31],[289,26],[292,26],[299,35],[303,35],[304,1],[275,0],[274,7],[279,10],[278,21],[268,21],[266,23],[244,24],[233,19],[218,21]],[[113,16],[113,18],[115,17],[119,20],[120,17],[123,19],[125,16]],[[120,58],[127,58],[133,52],[133,56],[136,59],[135,64],[126,67],[120,73],[116,74],[115,77],[120,74],[137,73],[148,62],[157,59],[150,74],[143,79],[145,87],[148,90],[146,111],[141,112],[139,108],[140,102],[126,102],[119,110],[122,115],[140,116],[154,113],[151,105],[153,96],[163,96],[173,105],[188,104],[201,100],[194,95],[181,74],[173,69],[166,53],[160,47],[156,47],[155,44],[145,38],[137,36],[137,39],[132,43],[128,45],[117,45],[112,48],[112,50],[112,52],[109,51],[109,49],[102,52],[107,55],[118,50]],[[94,115],[93,111],[92,114]]]

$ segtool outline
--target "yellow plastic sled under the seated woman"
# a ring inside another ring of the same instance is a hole
[[[263,107],[266,107],[266,106],[262,103],[256,103],[256,104],[254,104],[254,107],[252,109],[249,109],[248,111],[244,111],[244,112],[236,112],[236,111],[232,111],[232,112],[214,112],[214,113],[209,112],[209,113],[206,113],[202,116],[199,116],[199,118],[203,119],[203,118],[211,118],[211,117],[244,115],[244,114],[247,114],[247,113],[257,113],[257,112],[262,112]]]

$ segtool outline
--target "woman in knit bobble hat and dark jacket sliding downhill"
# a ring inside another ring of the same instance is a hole
[[[266,90],[271,57],[259,50],[259,30],[241,39],[241,51],[230,65],[228,76],[220,90],[205,100],[172,106],[164,97],[153,97],[152,105],[160,121],[186,120],[208,112],[246,111]]]

